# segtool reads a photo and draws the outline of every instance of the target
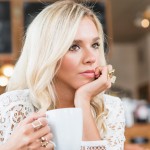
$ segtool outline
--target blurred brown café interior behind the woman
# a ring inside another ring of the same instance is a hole
[[[0,94],[13,74],[25,31],[56,0],[0,0]],[[79,0],[78,0],[79,1]],[[107,62],[116,83],[109,94],[125,107],[126,150],[150,148],[150,0],[82,0],[98,15],[105,32]]]

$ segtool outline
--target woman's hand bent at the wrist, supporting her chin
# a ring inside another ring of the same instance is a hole
[[[108,76],[108,71],[112,70],[112,66],[97,67],[95,69],[95,80],[81,86],[75,93],[75,106],[80,105],[83,101],[90,101],[97,94],[111,87],[111,79]]]

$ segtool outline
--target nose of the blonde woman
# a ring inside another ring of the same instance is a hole
[[[93,64],[96,62],[96,55],[92,50],[86,50],[84,52],[83,63],[84,64]]]

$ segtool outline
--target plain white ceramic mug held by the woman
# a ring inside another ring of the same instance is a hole
[[[53,133],[55,150],[80,150],[82,140],[82,110],[63,108],[46,112]]]

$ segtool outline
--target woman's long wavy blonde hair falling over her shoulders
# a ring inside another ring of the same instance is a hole
[[[59,69],[58,61],[68,51],[85,16],[97,27],[101,40],[100,65],[105,65],[103,30],[96,15],[81,4],[59,1],[43,9],[28,27],[22,54],[7,91],[28,88],[35,107],[54,109],[57,93],[53,79]],[[91,107],[99,128],[105,130],[107,111],[101,94],[94,98]]]

